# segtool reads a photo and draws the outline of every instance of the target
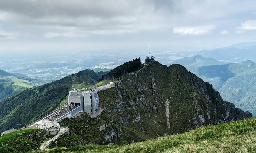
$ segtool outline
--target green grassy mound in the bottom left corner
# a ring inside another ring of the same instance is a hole
[[[37,149],[40,145],[37,142],[40,142],[43,139],[46,132],[43,131],[42,136],[36,140],[28,139],[26,135],[33,134],[38,130],[41,129],[24,129],[0,136],[0,152],[25,152],[32,149]]]

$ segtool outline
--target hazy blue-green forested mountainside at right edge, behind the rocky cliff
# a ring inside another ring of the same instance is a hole
[[[192,71],[210,82],[226,101],[256,115],[256,64],[252,61],[203,66]]]

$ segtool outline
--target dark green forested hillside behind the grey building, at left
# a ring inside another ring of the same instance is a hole
[[[68,95],[72,83],[97,83],[99,76],[92,70],[83,70],[58,81],[28,88],[0,101],[0,131],[29,124],[54,110]],[[81,81],[81,82],[80,82]]]

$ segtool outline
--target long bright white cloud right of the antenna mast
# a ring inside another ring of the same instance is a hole
[[[207,26],[198,26],[198,27],[174,27],[173,33],[174,34],[181,34],[181,35],[201,35],[201,34],[209,34],[210,31],[215,29],[214,25],[207,25]]]

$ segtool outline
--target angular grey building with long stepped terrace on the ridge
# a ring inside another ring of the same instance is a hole
[[[48,129],[49,134],[53,135],[58,133],[58,128],[60,127],[49,127],[48,125],[51,124],[51,121],[59,122],[64,118],[72,118],[78,113],[83,112],[89,113],[91,117],[96,117],[104,109],[104,107],[99,107],[98,111],[99,102],[100,99],[96,90],[80,89],[69,91],[67,105],[53,110],[29,126],[37,126],[40,129]]]

